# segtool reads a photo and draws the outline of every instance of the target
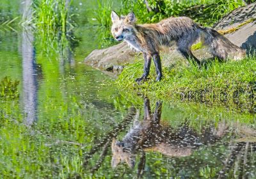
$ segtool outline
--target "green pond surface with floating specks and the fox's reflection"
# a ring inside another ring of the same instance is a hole
[[[80,63],[93,30],[61,52],[1,30],[0,178],[256,178],[255,114],[120,91]]]

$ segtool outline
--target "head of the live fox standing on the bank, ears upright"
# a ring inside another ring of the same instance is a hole
[[[133,12],[130,12],[126,17],[119,17],[116,12],[111,13],[112,29],[111,33],[115,40],[121,41],[132,36],[132,29],[136,18]]]

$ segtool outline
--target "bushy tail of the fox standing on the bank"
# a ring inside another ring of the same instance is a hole
[[[208,47],[214,57],[220,59],[232,58],[243,59],[246,52],[230,42],[225,36],[209,27],[200,27],[201,40],[203,45]]]

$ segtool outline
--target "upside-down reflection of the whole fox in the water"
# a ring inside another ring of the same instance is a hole
[[[147,151],[160,152],[169,157],[186,157],[198,146],[214,143],[225,133],[223,124],[217,128],[204,128],[200,134],[188,125],[174,130],[170,125],[161,124],[161,111],[162,102],[159,101],[152,114],[150,101],[147,97],[144,98],[143,121],[134,121],[133,127],[122,141],[112,141],[112,167],[116,167],[120,162],[134,167],[138,153],[143,156],[138,167],[143,167]]]

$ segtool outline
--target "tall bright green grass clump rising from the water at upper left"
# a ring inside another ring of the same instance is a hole
[[[44,51],[51,53],[54,51],[63,52],[68,47],[68,36],[74,28],[72,13],[70,13],[70,1],[65,0],[39,0],[32,4],[32,19],[26,19],[23,24],[33,27],[36,44],[44,48]],[[39,40],[40,39],[40,40]]]

